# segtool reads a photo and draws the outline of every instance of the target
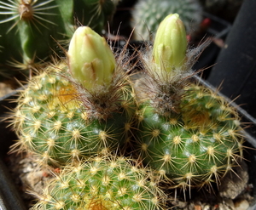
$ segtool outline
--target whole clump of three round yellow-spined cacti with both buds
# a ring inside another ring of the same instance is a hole
[[[191,54],[183,21],[170,14],[134,82],[125,53],[79,27],[67,60],[33,77],[15,109],[12,150],[61,167],[32,209],[166,209],[162,183],[219,184],[242,158],[239,116],[193,82]]]

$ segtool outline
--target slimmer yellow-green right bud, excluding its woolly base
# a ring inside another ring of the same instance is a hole
[[[155,35],[154,63],[166,72],[181,67],[185,61],[187,45],[183,21],[178,14],[169,14],[162,20]]]

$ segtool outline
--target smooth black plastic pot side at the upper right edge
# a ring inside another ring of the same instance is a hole
[[[256,122],[256,1],[245,0],[207,81]],[[256,132],[253,133],[256,137]]]

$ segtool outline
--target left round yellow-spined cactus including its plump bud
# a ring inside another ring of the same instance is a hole
[[[32,151],[43,164],[106,154],[124,146],[131,133],[131,88],[106,40],[79,27],[67,57],[28,82],[15,111],[20,140],[13,150]]]

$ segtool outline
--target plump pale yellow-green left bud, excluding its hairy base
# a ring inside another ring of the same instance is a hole
[[[111,83],[115,59],[106,40],[88,26],[79,27],[73,34],[68,52],[69,69],[84,88]]]

